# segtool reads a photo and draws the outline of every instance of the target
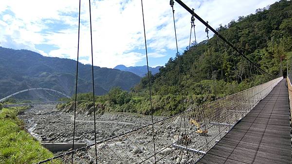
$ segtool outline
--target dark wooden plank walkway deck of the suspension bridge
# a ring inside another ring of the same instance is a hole
[[[285,82],[279,82],[197,164],[292,164]]]

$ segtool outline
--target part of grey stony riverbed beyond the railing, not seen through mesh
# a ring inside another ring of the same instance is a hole
[[[29,132],[41,142],[62,143],[73,141],[73,113],[62,113],[55,104],[38,104],[19,115]],[[155,117],[154,121],[162,117]],[[151,123],[149,116],[131,113],[105,113],[96,116],[98,140],[127,132]],[[75,140],[94,142],[93,115],[76,115]]]

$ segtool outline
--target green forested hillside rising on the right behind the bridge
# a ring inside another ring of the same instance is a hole
[[[278,75],[281,61],[283,71],[287,61],[292,64],[291,0],[280,0],[267,8],[257,9],[256,14],[220,25],[217,31],[272,75]],[[151,75],[154,114],[172,115],[185,110],[182,103],[186,107],[200,105],[269,80],[271,78],[259,72],[216,36],[197,46],[193,42],[179,59],[169,59],[159,73]],[[149,114],[148,86],[148,78],[144,77],[131,92],[114,88],[106,96],[99,97],[97,102],[105,111]],[[90,94],[79,95],[78,101],[86,103],[91,100],[86,97]]]

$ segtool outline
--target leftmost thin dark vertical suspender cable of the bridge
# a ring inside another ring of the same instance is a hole
[[[78,62],[79,62],[79,40],[80,40],[80,8],[81,0],[79,0],[79,15],[78,15],[78,45],[77,45],[77,61],[76,61],[76,83],[75,83],[75,104],[74,104],[74,123],[73,123],[73,146],[74,150],[74,140],[75,140],[75,123],[76,123],[76,105],[77,105],[77,82],[78,82]],[[72,164],[73,164],[73,155],[72,153]]]

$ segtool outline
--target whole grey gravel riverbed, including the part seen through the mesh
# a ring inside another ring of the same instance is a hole
[[[42,143],[72,143],[73,113],[62,113],[55,104],[38,104],[19,115],[28,131]],[[154,122],[164,117],[153,117]],[[195,133],[189,123],[182,128],[182,116],[167,121],[152,123],[150,116],[132,113],[104,113],[96,116],[97,160],[102,164],[151,164],[156,159],[158,164],[183,164],[187,160],[195,162],[200,153],[185,151],[185,148],[204,152],[215,144],[216,134],[224,126],[212,126],[208,135]],[[224,129],[223,129],[224,130]],[[154,131],[154,133],[153,133]],[[185,132],[188,133],[184,136]],[[114,137],[124,134],[119,137]],[[153,142],[153,136],[154,141]],[[113,137],[110,140],[107,138]],[[75,141],[94,143],[94,123],[92,115],[76,115]],[[155,152],[154,156],[154,144]],[[209,143],[206,145],[206,143]],[[56,154],[59,154],[58,152]],[[76,163],[92,164],[95,161],[95,148],[78,152],[74,156]]]

